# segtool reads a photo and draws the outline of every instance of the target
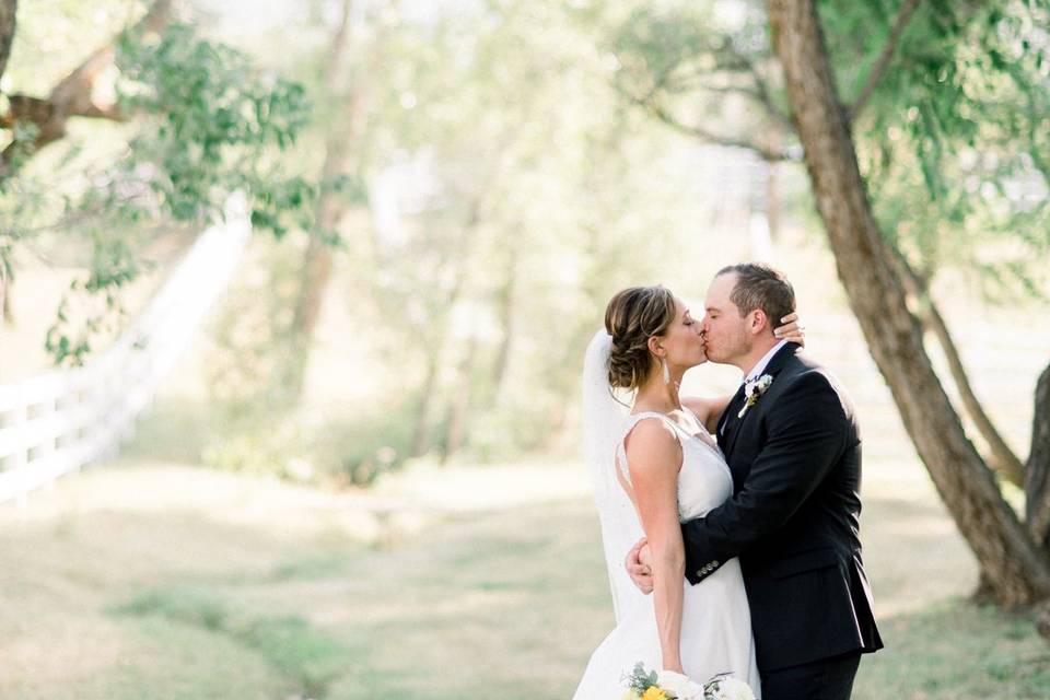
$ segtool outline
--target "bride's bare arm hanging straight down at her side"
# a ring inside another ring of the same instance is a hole
[[[627,444],[627,463],[642,528],[652,551],[653,603],[663,667],[682,673],[681,639],[685,546],[678,523],[681,445],[657,419],[639,422]]]

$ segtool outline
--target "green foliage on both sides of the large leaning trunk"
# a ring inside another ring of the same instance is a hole
[[[1050,3],[924,0],[891,44],[906,7],[818,2],[844,105],[877,77],[853,137],[880,228],[918,268],[954,266],[1003,292],[1038,289],[1050,253],[1050,45],[1041,28]],[[791,144],[760,3],[737,11],[720,19],[716,5],[682,1],[626,12],[609,32],[615,83],[629,102],[652,102],[698,136]],[[888,67],[875,75],[888,48]]]

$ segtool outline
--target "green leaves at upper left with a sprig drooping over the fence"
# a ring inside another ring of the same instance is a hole
[[[255,229],[280,238],[313,228],[318,185],[280,160],[307,124],[302,85],[261,73],[185,24],[155,39],[124,35],[117,67],[118,104],[137,128],[118,160],[81,174],[84,186],[66,195],[65,217],[91,240],[91,261],[47,334],[56,364],[81,364],[119,332],[120,291],[145,267],[147,224],[203,228],[240,190]]]

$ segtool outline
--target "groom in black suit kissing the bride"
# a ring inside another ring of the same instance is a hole
[[[773,336],[794,290],[756,264],[721,270],[703,331],[712,362],[745,382],[722,413],[719,446],[733,498],[682,525],[686,576],[700,583],[739,557],[763,700],[850,697],[861,654],[882,649],[858,538],[861,440],[853,405],[802,348]],[[648,552],[628,555],[652,590]]]

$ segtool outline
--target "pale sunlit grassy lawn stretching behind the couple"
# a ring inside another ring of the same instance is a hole
[[[340,495],[162,465],[66,479],[0,509],[0,697],[567,698],[611,625],[585,490],[568,466]],[[866,490],[887,650],[854,697],[1050,698],[1050,646],[966,602],[972,560],[921,472],[876,463]]]

